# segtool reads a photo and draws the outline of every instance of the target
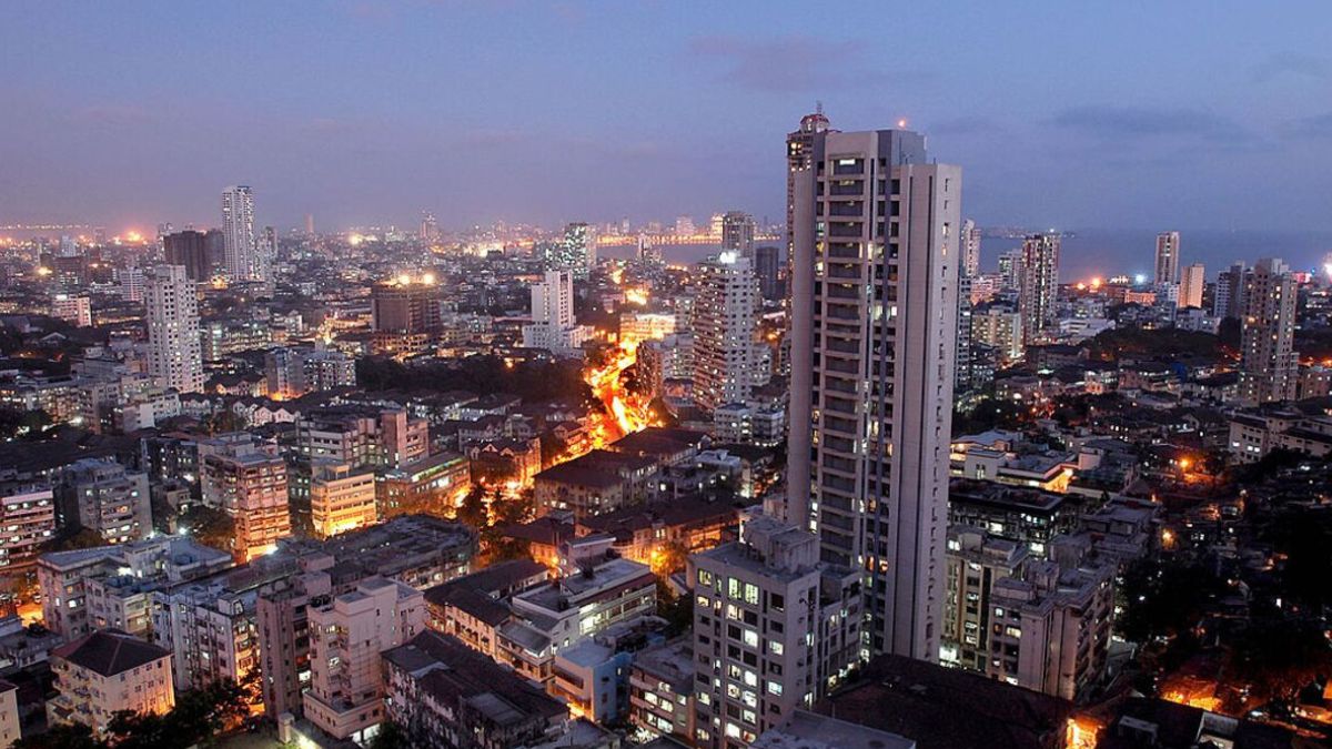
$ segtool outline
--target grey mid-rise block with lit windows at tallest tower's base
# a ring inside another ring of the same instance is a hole
[[[749,746],[859,660],[859,573],[821,564],[818,546],[810,532],[762,516],[742,541],[689,557],[694,746]]]

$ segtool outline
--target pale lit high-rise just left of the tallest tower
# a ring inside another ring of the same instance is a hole
[[[706,410],[745,402],[757,377],[758,284],[750,259],[723,252],[698,265],[694,401]]]

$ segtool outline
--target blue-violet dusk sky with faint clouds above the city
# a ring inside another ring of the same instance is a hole
[[[1332,229],[1332,5],[0,5],[0,224],[321,229],[739,208],[907,119],[980,224]]]

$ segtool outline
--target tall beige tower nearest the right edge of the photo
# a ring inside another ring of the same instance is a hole
[[[1293,400],[1300,355],[1295,345],[1295,276],[1264,257],[1244,275],[1240,332],[1240,400],[1245,405]]]

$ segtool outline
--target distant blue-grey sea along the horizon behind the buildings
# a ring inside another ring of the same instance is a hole
[[[1060,245],[1059,276],[1063,281],[1091,279],[1092,276],[1151,276],[1156,252],[1156,232],[1150,229],[1078,229],[1071,231]],[[763,243],[785,245],[782,241]],[[999,253],[1020,247],[1022,240],[984,237],[980,243],[980,265],[986,271],[999,267]],[[785,249],[785,248],[783,248]],[[715,244],[663,245],[662,257],[667,263],[698,263],[721,248]],[[605,257],[629,259],[634,247],[603,247]],[[1207,277],[1216,275],[1231,263],[1243,260],[1253,264],[1259,257],[1280,257],[1296,271],[1323,267],[1324,255],[1332,252],[1332,232],[1224,232],[1215,229],[1180,229],[1180,268],[1201,263]]]

